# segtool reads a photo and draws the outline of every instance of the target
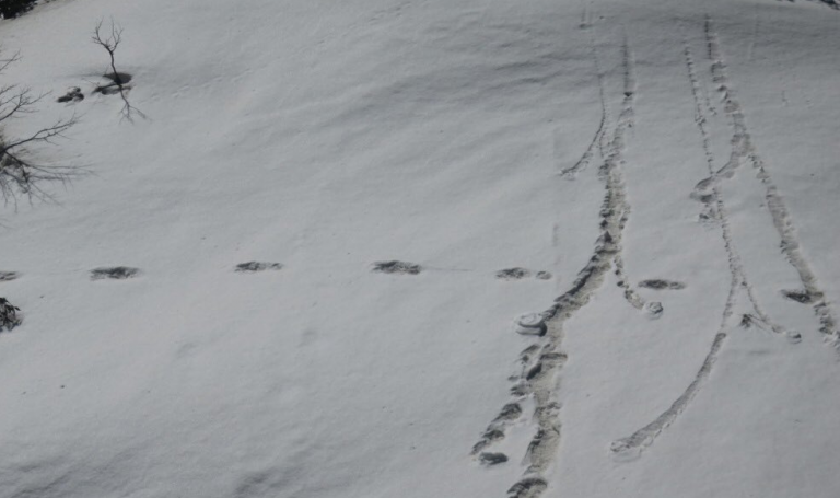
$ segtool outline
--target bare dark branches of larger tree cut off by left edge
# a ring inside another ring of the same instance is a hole
[[[0,59],[0,74],[10,65],[20,60],[20,54]],[[0,85],[0,131],[12,119],[31,114],[46,94],[34,94],[31,89],[16,84]],[[34,134],[12,137],[0,132],[0,195],[9,202],[18,202],[18,196],[49,199],[39,186],[42,181],[67,182],[78,175],[75,166],[47,164],[37,161],[31,149],[38,144],[55,144],[55,140],[78,123],[75,115],[60,118]]]

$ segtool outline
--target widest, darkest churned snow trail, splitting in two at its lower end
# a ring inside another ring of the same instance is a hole
[[[626,135],[633,127],[635,80],[629,44],[622,47],[623,99],[610,140],[605,143],[604,161],[598,177],[605,185],[605,197],[599,211],[600,234],[590,262],[578,274],[571,289],[555,300],[555,304],[536,320],[528,321],[526,331],[533,331],[536,343],[520,354],[521,373],[512,380],[513,399],[502,407],[488,426],[481,439],[472,448],[472,454],[487,454],[486,449],[503,439],[508,426],[520,418],[522,402],[532,398],[535,404],[536,433],[533,437],[525,462],[527,468],[521,480],[508,494],[512,498],[536,498],[548,487],[545,471],[553,462],[560,444],[560,403],[557,399],[557,374],[567,360],[561,351],[563,324],[586,305],[590,298],[602,287],[607,271],[620,259],[621,233],[630,208],[627,202],[621,174]],[[534,323],[532,323],[534,322]]]

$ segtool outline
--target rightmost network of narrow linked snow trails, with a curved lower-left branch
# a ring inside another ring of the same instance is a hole
[[[711,121],[703,105],[705,101],[704,92],[702,91],[700,78],[697,74],[697,63],[691,47],[688,40],[684,39],[686,71],[695,103],[695,123],[700,135],[701,146],[710,175],[697,185],[691,197],[701,201],[704,206],[701,219],[712,220],[721,228],[721,235],[726,251],[731,274],[730,292],[722,312],[718,332],[712,340],[709,352],[695,375],[695,379],[688,387],[686,387],[682,394],[677,397],[666,410],[656,417],[656,419],[637,430],[631,436],[612,442],[610,448],[611,451],[621,459],[639,456],[641,452],[653,444],[656,437],[673,424],[679,414],[686,409],[688,404],[709,378],[730,331],[737,326],[747,328],[756,326],[763,331],[784,335],[791,343],[795,344],[801,341],[801,336],[797,332],[789,331],[781,324],[774,322],[760,305],[742,263],[742,258],[735,247],[732,227],[726,205],[721,194],[720,184],[727,178],[732,178],[735,170],[740,165],[751,164],[752,167],[757,170],[757,178],[765,186],[767,206],[773,225],[781,240],[780,245],[782,253],[788,263],[790,263],[800,275],[804,291],[792,293],[791,296],[794,297],[791,299],[803,303],[812,303],[815,315],[820,323],[820,332],[828,339],[837,344],[837,331],[831,311],[825,301],[824,293],[817,287],[816,277],[798,250],[800,243],[795,238],[793,224],[783,199],[779,195],[779,190],[773,184],[769,172],[766,170],[763,161],[758,155],[756,148],[751,142],[749,132],[747,131],[744,113],[740,104],[735,99],[732,85],[726,76],[726,63],[710,16],[705,18],[704,38],[710,62],[710,77],[716,91],[720,93],[721,102],[724,105],[725,117],[728,119],[733,132],[731,139],[732,150],[726,164],[722,167],[718,167],[711,149],[711,134],[709,130]],[[705,108],[710,107],[707,105]]]

